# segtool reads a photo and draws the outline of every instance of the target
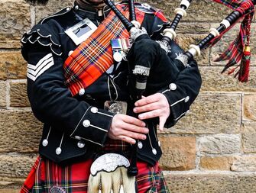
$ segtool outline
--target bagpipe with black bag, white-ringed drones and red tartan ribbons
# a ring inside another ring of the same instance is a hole
[[[228,47],[228,50],[226,50],[218,60],[229,60],[222,72],[228,69],[228,67],[234,66],[241,60],[241,64],[239,65],[240,69],[235,73],[235,76],[238,76],[238,79],[241,82],[248,81],[250,25],[256,1],[235,0],[229,1],[229,3],[228,1],[222,0],[214,1],[225,3],[225,5],[232,8],[234,11],[232,11],[231,14],[228,14],[228,16],[219,24],[219,27],[211,28],[209,34],[203,38],[203,40],[200,40],[199,43],[190,45],[190,49],[185,53],[179,53],[175,59],[171,59],[168,56],[168,52],[170,52],[170,43],[176,37],[175,30],[177,25],[179,24],[180,19],[183,18],[183,16],[186,16],[186,9],[189,8],[192,0],[181,1],[180,8],[177,8],[175,11],[176,16],[173,19],[173,22],[164,25],[162,39],[160,41],[151,40],[147,31],[145,31],[138,21],[136,21],[133,0],[128,1],[130,10],[129,20],[115,7],[115,4],[111,0],[104,0],[105,4],[109,5],[112,11],[115,12],[131,35],[131,48],[128,50],[125,60],[127,60],[129,64],[129,82],[131,88],[133,88],[133,90],[131,90],[131,96],[134,101],[140,99],[147,90],[150,90],[152,94],[157,92],[157,89],[159,88],[154,88],[154,82],[158,82],[158,86],[165,86],[170,83],[171,80],[175,80],[180,70],[189,66],[190,61],[193,60],[195,56],[199,56],[202,50],[211,47],[218,42],[222,35],[233,27],[240,18],[244,18],[244,21],[242,21],[238,38],[230,47]],[[233,69],[232,72],[234,72],[235,69]],[[163,71],[165,71],[165,76],[156,77],[151,74],[151,72],[153,72],[160,75]],[[169,81],[168,83],[167,80]],[[151,93],[147,92],[147,94]],[[128,167],[128,176],[131,178],[138,174],[138,169],[136,168],[136,153],[137,144],[134,145],[130,165],[126,166]],[[134,190],[134,188],[131,189]],[[119,192],[123,192],[123,190]]]

